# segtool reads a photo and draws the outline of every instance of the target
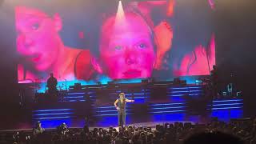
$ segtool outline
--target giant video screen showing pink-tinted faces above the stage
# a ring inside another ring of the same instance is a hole
[[[18,82],[210,74],[212,2],[32,1],[14,6]]]

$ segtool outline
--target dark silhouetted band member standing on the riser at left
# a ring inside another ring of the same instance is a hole
[[[50,73],[50,78],[47,80],[48,94],[50,98],[57,98],[57,84],[58,81],[54,78],[54,74]]]

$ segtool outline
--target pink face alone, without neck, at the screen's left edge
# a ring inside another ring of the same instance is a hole
[[[15,12],[18,54],[31,69],[51,69],[58,55],[58,16],[29,6],[17,6]]]

